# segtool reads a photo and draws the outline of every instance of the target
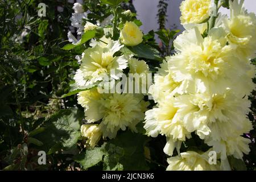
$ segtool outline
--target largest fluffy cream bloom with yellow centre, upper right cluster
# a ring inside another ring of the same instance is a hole
[[[241,96],[251,88],[240,88],[238,80],[252,85],[249,64],[236,55],[236,46],[227,45],[223,28],[212,28],[203,38],[197,28],[183,32],[174,41],[177,54],[167,59],[170,72],[176,82],[182,82],[184,92],[223,93],[227,88],[242,89]],[[234,79],[236,78],[236,79]],[[197,88],[195,88],[197,85]]]

